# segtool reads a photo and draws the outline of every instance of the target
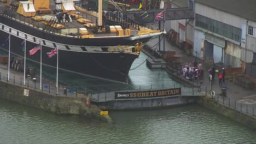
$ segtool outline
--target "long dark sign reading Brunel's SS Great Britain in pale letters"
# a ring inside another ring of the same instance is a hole
[[[181,94],[181,88],[161,89],[157,91],[115,92],[115,99],[155,98],[179,94]]]

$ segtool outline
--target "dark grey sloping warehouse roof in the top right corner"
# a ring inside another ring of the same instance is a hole
[[[196,0],[196,2],[256,22],[255,0]]]

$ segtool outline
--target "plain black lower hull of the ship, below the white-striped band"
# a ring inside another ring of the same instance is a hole
[[[15,29],[11,28],[11,31],[15,31]],[[1,29],[0,35],[0,44],[3,44],[8,38],[9,33]],[[11,53],[24,57],[24,51],[20,48],[23,40],[24,39],[11,33]],[[33,56],[29,55],[29,50],[37,44],[37,40],[26,40],[26,58],[39,63],[40,51]],[[9,43],[2,46],[2,49],[9,51]],[[46,55],[46,52],[50,52],[51,50],[53,50],[53,47],[42,45],[42,63],[56,68],[57,57],[48,58]],[[101,50],[102,51],[90,51],[87,49],[85,51],[73,51],[72,49],[59,49],[59,68],[102,79],[126,82],[131,64],[138,55],[124,52],[109,52],[104,49]]]

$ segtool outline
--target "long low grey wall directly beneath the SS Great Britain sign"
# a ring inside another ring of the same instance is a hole
[[[148,107],[166,107],[194,103],[196,99],[196,97],[175,96],[157,99],[114,100],[107,101],[106,103],[98,103],[98,106],[106,107],[106,109],[143,109]]]

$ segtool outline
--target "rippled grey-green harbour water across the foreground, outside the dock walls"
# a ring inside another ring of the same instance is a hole
[[[255,143],[256,131],[199,105],[110,111],[114,123],[0,99],[0,143]]]

